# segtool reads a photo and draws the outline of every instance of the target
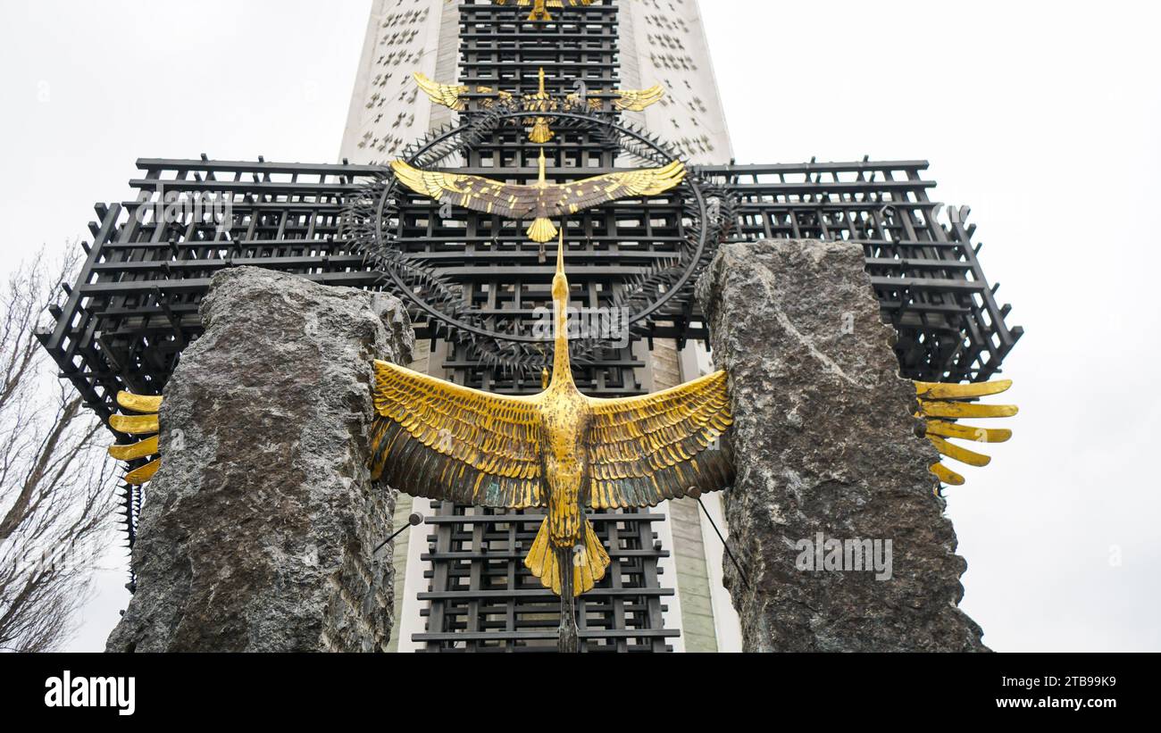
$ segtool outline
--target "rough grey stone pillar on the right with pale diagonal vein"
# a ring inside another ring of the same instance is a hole
[[[743,644],[982,651],[957,608],[967,565],[932,494],[937,456],[916,434],[915,390],[863,257],[844,242],[726,245],[698,285],[736,420],[726,515],[749,588],[729,563],[726,583]],[[888,572],[851,569],[854,540],[879,540]]]

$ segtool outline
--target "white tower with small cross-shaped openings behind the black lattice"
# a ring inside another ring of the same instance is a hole
[[[620,5],[621,86],[661,84],[665,99],[626,113],[694,164],[733,157],[726,115],[695,0],[614,0]],[[340,157],[373,164],[454,113],[433,104],[411,79],[419,71],[459,81],[460,13],[448,0],[374,0]]]

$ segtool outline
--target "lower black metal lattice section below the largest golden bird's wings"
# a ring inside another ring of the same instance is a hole
[[[586,652],[665,652],[661,547],[656,514],[589,517],[612,560],[605,578],[577,598]],[[497,513],[444,503],[427,518],[430,589],[419,600],[427,630],[412,636],[427,652],[555,652],[560,600],[524,567],[542,514]]]

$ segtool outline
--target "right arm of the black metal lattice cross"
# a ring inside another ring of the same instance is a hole
[[[904,376],[981,382],[1024,333],[1004,322],[980,267],[967,209],[949,211],[928,191],[926,161],[706,167],[740,199],[738,238],[816,238],[863,245],[884,319],[899,332]]]

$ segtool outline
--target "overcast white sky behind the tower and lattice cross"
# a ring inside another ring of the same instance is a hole
[[[985,643],[1161,649],[1158,5],[701,5],[737,159],[930,160],[1027,331],[1016,436],[950,492]],[[87,237],[139,157],[334,160],[369,7],[5,0],[0,273]],[[103,647],[123,582],[73,648]]]

